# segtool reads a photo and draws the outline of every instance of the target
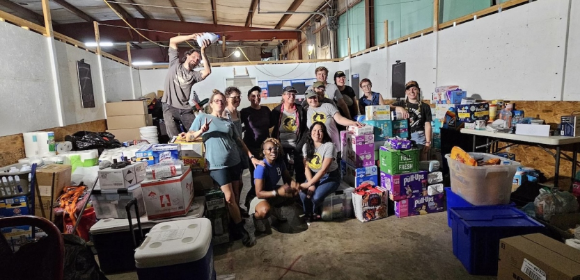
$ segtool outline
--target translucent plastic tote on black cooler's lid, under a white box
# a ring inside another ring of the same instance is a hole
[[[145,215],[145,201],[143,201],[141,184],[117,190],[93,190],[91,195],[97,219],[127,219],[125,205],[133,198],[137,199],[139,215]],[[135,217],[134,208],[131,209],[131,217]]]

